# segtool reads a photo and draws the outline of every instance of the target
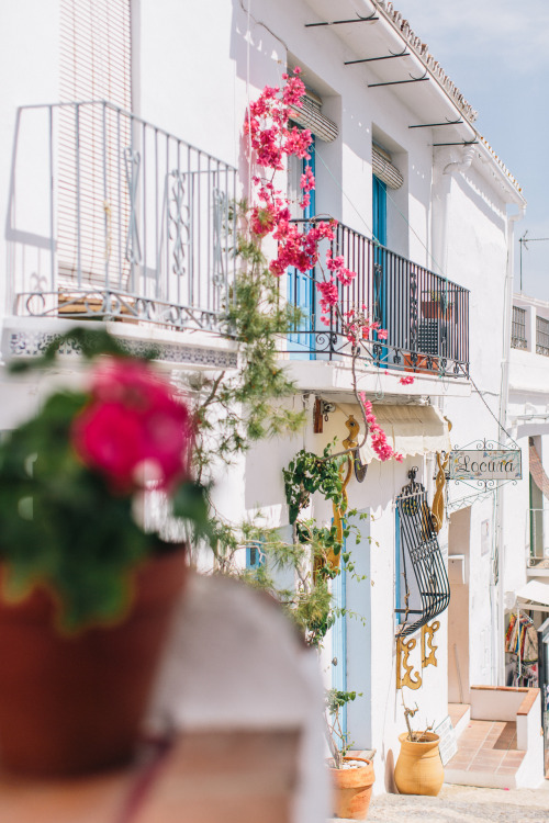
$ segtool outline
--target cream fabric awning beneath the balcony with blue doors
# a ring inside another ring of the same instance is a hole
[[[354,415],[360,425],[358,442],[361,442],[363,424],[360,407],[355,404],[338,404],[338,408],[347,417]],[[435,406],[374,405],[372,412],[386,435],[389,446],[403,458],[432,454],[437,451],[449,452],[451,449],[448,421]],[[345,428],[343,430],[345,431]],[[371,448],[370,437],[360,449],[360,458],[362,463],[379,460]]]

